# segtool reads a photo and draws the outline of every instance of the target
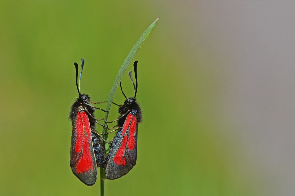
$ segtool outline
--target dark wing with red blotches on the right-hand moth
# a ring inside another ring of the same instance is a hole
[[[135,115],[128,114],[122,133],[106,165],[106,178],[114,180],[126,175],[137,160],[138,123]]]

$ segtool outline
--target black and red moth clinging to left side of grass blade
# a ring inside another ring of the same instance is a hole
[[[72,121],[70,166],[79,180],[91,186],[96,182],[97,167],[106,167],[107,157],[101,139],[95,131],[96,123],[98,123],[94,118],[95,107],[90,105],[88,95],[80,93],[84,59],[82,58],[79,86],[78,64],[74,63],[74,65],[76,67],[76,86],[79,97],[73,103],[69,114],[69,119]]]

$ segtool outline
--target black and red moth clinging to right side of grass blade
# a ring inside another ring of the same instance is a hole
[[[137,62],[135,61],[133,64],[136,87],[131,71],[128,73],[135,90],[134,97],[127,98],[125,96],[120,82],[121,91],[126,100],[123,105],[119,105],[120,116],[117,120],[117,127],[121,129],[115,134],[109,150],[109,161],[106,165],[106,178],[109,180],[122,177],[136,164],[138,123],[142,120],[142,110],[135,98],[137,93]]]

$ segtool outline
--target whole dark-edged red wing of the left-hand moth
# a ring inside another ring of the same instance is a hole
[[[73,173],[86,185],[94,185],[97,179],[97,166],[91,139],[88,115],[78,112],[73,122],[70,165]]]

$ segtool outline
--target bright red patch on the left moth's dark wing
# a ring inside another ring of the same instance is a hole
[[[75,145],[75,154],[77,153],[76,156],[78,156],[78,161],[76,162],[76,171],[78,173],[82,173],[88,170],[93,170],[93,161],[89,149],[89,143],[91,143],[91,130],[89,118],[85,111],[82,113],[78,112],[76,131],[77,140]],[[83,151],[82,154],[80,153],[81,151]]]

